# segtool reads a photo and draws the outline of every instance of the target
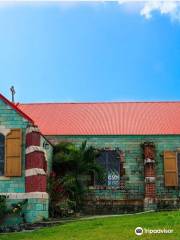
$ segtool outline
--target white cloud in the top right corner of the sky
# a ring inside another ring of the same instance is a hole
[[[127,4],[127,3],[135,3],[135,1],[126,1],[120,0],[120,4]],[[138,1],[142,2],[143,1]],[[136,2],[136,4],[138,4]],[[144,16],[146,19],[150,19],[153,16],[154,12],[159,12],[161,15],[167,15],[173,21],[180,22],[180,1],[174,0],[164,0],[164,1],[157,1],[157,0],[149,0],[144,1],[143,5],[140,8],[140,15]]]

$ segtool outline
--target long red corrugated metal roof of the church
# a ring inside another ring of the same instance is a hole
[[[44,135],[180,134],[180,102],[20,104]]]

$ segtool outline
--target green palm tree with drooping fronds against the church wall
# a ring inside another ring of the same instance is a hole
[[[80,147],[62,142],[55,146],[53,171],[71,201],[76,203],[76,211],[83,206],[90,181],[95,175],[102,176],[102,168],[96,162],[99,152],[84,141]]]

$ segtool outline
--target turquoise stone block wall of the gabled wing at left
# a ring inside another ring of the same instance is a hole
[[[21,177],[4,177],[0,176],[0,195],[1,193],[25,193],[25,132],[28,121],[19,115],[14,109],[0,100],[0,127],[8,129],[21,128],[23,132],[22,144],[22,176]],[[47,151],[48,169],[51,167],[52,146]],[[20,202],[21,199],[7,199],[7,205]],[[47,199],[28,199],[28,204],[24,209],[27,222],[36,222],[43,218],[48,218],[48,200]],[[5,219],[6,224],[17,224],[22,218],[11,215]]]

